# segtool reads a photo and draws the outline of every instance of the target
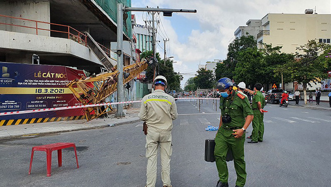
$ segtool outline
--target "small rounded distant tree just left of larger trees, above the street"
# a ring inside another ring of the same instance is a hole
[[[214,87],[213,71],[201,68],[194,77],[194,83],[198,88],[208,89]]]

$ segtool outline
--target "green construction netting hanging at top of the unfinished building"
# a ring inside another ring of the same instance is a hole
[[[110,18],[117,23],[117,4],[121,3],[126,7],[131,7],[131,0],[95,0],[95,2],[106,12]],[[124,20],[123,32],[129,37],[132,34],[131,12],[126,13],[127,19]],[[124,16],[125,19],[126,16]]]

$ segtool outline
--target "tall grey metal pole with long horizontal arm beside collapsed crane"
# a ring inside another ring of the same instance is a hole
[[[197,13],[197,10],[184,10],[184,9],[155,9],[155,8],[134,8],[134,7],[124,7],[123,4],[117,4],[117,102],[123,102],[123,13],[127,12],[162,12],[163,16],[172,16],[172,13]],[[152,15],[153,15],[152,14]],[[154,19],[154,16],[153,16]],[[154,24],[154,22],[153,22]],[[153,31],[154,32],[154,31]],[[154,40],[154,38],[153,38]],[[154,44],[155,45],[155,44]],[[155,46],[153,46],[153,52],[155,54]],[[155,57],[155,55],[154,55]],[[124,116],[123,104],[117,105],[116,117]]]

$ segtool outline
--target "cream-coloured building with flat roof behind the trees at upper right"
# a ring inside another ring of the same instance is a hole
[[[294,53],[308,40],[330,43],[331,15],[267,14],[262,18],[262,30],[257,34],[257,46],[263,43],[281,46],[284,53]]]

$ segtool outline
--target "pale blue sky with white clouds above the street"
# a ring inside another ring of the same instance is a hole
[[[227,49],[239,26],[250,19],[262,19],[268,13],[304,14],[313,9],[317,14],[330,14],[331,0],[131,0],[132,7],[191,9],[197,13],[173,13],[172,17],[156,16],[160,21],[156,39],[157,52],[163,58],[163,39],[167,57],[173,56],[174,69],[184,73],[181,86],[194,77],[199,63],[226,59]],[[150,20],[147,13],[136,15],[137,24]]]

